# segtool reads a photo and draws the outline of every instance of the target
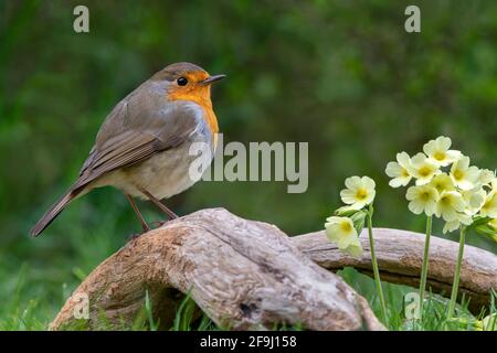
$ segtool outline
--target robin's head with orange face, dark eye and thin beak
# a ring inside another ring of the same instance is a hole
[[[205,69],[191,63],[176,63],[158,72],[152,79],[166,85],[169,100],[191,100],[210,107],[211,85],[224,77],[209,75]]]

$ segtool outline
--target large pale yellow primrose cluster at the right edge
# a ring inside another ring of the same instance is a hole
[[[480,233],[497,235],[497,178],[494,171],[470,165],[469,157],[451,149],[447,137],[438,137],[410,157],[396,154],[385,173],[392,188],[408,189],[409,210],[445,221],[443,232],[475,225]]]

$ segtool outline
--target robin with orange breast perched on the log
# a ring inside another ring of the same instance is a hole
[[[203,142],[213,156],[219,128],[211,84],[224,77],[211,76],[194,64],[176,63],[131,92],[106,117],[77,180],[34,225],[31,235],[43,232],[73,200],[107,185],[123,191],[144,232],[150,228],[134,197],[149,200],[169,218],[176,218],[160,200],[197,181],[189,173],[195,158],[189,153],[191,143]]]

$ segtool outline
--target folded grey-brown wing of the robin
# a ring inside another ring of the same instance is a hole
[[[163,109],[154,109],[154,116],[140,117],[137,116],[140,109],[129,109],[127,104],[120,103],[123,106],[116,107],[110,119],[104,122],[74,189],[109,171],[133,165],[157,152],[177,147],[201,126],[202,111],[195,105],[178,101]]]

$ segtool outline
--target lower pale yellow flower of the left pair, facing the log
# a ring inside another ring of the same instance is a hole
[[[352,220],[349,217],[328,217],[326,218],[325,228],[328,239],[337,244],[340,250],[352,256],[362,254],[361,243],[353,227]]]

